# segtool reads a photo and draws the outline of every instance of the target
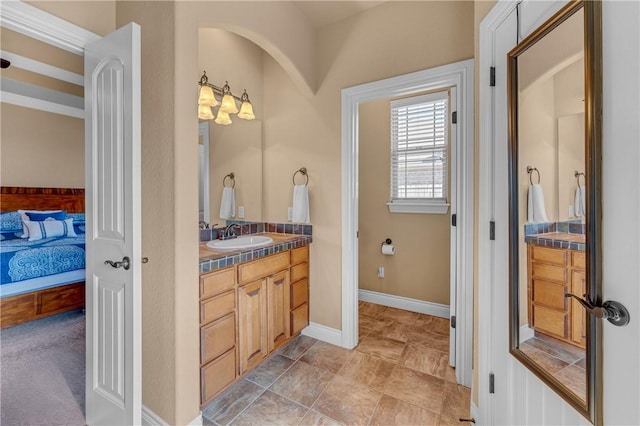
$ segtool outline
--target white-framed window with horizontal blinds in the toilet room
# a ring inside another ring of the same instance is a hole
[[[449,92],[391,102],[391,212],[447,213]]]

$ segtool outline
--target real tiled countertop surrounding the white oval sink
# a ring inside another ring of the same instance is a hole
[[[215,271],[237,263],[248,262],[271,254],[306,246],[311,243],[308,235],[276,234],[271,232],[254,235],[264,235],[273,238],[273,243],[244,250],[213,250],[207,247],[207,242],[200,243],[200,273]]]

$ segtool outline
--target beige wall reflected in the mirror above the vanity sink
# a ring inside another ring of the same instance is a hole
[[[228,80],[236,96],[241,96],[246,89],[256,115],[255,120],[248,121],[231,114],[233,123],[228,126],[209,121],[211,223],[224,224],[219,217],[220,197],[222,181],[230,172],[235,175],[236,207],[244,207],[244,220],[261,221],[264,51],[246,38],[225,30],[203,28],[198,34],[200,72],[207,71],[209,83],[218,87]],[[217,99],[220,101],[220,97]],[[214,107],[214,115],[217,112],[218,108]],[[240,218],[236,216],[236,219]]]

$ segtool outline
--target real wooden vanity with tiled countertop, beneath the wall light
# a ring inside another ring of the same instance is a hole
[[[257,366],[309,324],[306,235],[265,233],[253,249],[200,245],[200,403]]]

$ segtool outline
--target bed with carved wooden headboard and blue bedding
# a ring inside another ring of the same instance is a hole
[[[20,238],[18,210],[64,210],[74,232]],[[83,308],[84,189],[3,186],[0,214],[0,328]]]

